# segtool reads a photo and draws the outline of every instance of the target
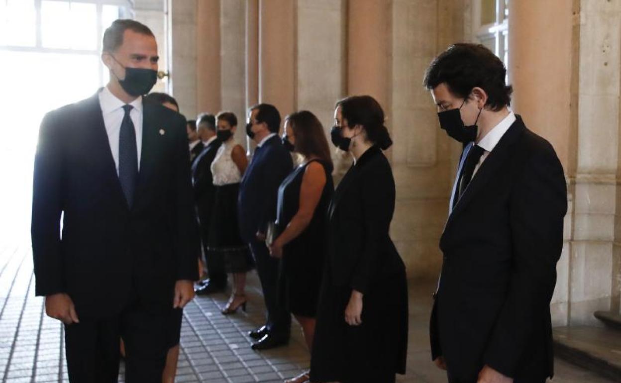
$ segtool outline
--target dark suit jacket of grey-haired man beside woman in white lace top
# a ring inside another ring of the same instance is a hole
[[[212,210],[214,208],[214,176],[211,173],[211,163],[218,149],[222,145],[219,139],[215,139],[207,146],[203,146],[201,153],[192,163],[192,182],[194,186],[194,201],[196,201],[196,209],[201,227],[209,230],[211,222]]]

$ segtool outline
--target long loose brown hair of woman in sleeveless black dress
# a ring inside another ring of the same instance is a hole
[[[296,151],[306,158],[319,157],[320,160],[329,164],[330,171],[332,171],[330,147],[319,119],[308,110],[301,110],[288,115],[284,120],[289,121],[293,129]]]

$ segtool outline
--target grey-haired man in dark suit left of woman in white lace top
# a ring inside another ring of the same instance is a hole
[[[203,150],[192,164],[192,182],[194,185],[194,201],[196,212],[201,224],[202,248],[206,258],[206,268],[209,279],[201,281],[196,288],[197,295],[211,294],[224,291],[227,286],[227,273],[224,269],[224,259],[219,254],[207,252],[209,227],[211,225],[212,210],[214,207],[215,186],[211,174],[211,163],[215,154],[222,145],[216,136],[215,116],[201,114],[198,119],[198,136],[203,143]]]

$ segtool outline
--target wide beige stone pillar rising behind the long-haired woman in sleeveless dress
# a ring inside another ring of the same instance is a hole
[[[317,115],[328,137],[334,104],[345,96],[346,9],[344,0],[297,2],[297,109]]]

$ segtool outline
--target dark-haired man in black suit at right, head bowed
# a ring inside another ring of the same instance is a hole
[[[553,376],[550,300],[567,209],[550,145],[508,109],[502,61],[457,44],[425,74],[441,127],[465,144],[440,248],[432,359],[449,382]]]

